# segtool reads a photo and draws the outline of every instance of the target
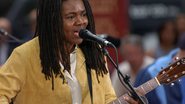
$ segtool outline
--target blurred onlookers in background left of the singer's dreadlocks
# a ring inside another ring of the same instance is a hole
[[[15,47],[30,40],[36,24],[36,0],[1,0],[0,29],[21,40],[1,34],[0,64],[3,64]]]

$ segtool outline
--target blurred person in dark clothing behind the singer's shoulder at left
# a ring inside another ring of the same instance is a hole
[[[36,8],[37,0],[14,0],[6,14],[12,26],[12,34],[19,39],[28,39],[30,33],[29,13]],[[31,39],[31,38],[30,38]]]

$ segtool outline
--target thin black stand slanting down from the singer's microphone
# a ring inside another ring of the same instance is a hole
[[[123,76],[123,74],[121,73],[121,71],[118,68],[118,65],[116,65],[116,63],[114,62],[114,60],[110,57],[107,49],[105,49],[104,47],[102,47],[102,52],[105,56],[108,57],[108,59],[111,61],[111,63],[114,65],[114,67],[116,68],[116,70],[118,71],[118,73],[121,75],[124,83],[128,86],[128,90],[130,92],[130,94],[132,95],[132,97],[136,100],[139,100],[139,102],[141,104],[145,104],[143,99],[141,99],[141,97],[136,93],[136,91],[134,90],[133,86],[130,84],[130,77],[125,75]]]

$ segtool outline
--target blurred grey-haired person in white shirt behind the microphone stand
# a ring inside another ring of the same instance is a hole
[[[119,64],[119,69],[122,74],[130,75],[130,80],[133,84],[138,71],[151,64],[154,59],[145,55],[142,39],[137,35],[129,35],[126,38],[123,37],[120,51],[124,61]],[[127,92],[118,78],[116,69],[114,69],[111,75],[111,80],[118,97]]]

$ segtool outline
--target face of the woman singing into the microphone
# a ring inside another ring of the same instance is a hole
[[[70,48],[82,42],[79,31],[86,28],[88,19],[82,0],[66,0],[63,2],[62,10],[64,33]]]

